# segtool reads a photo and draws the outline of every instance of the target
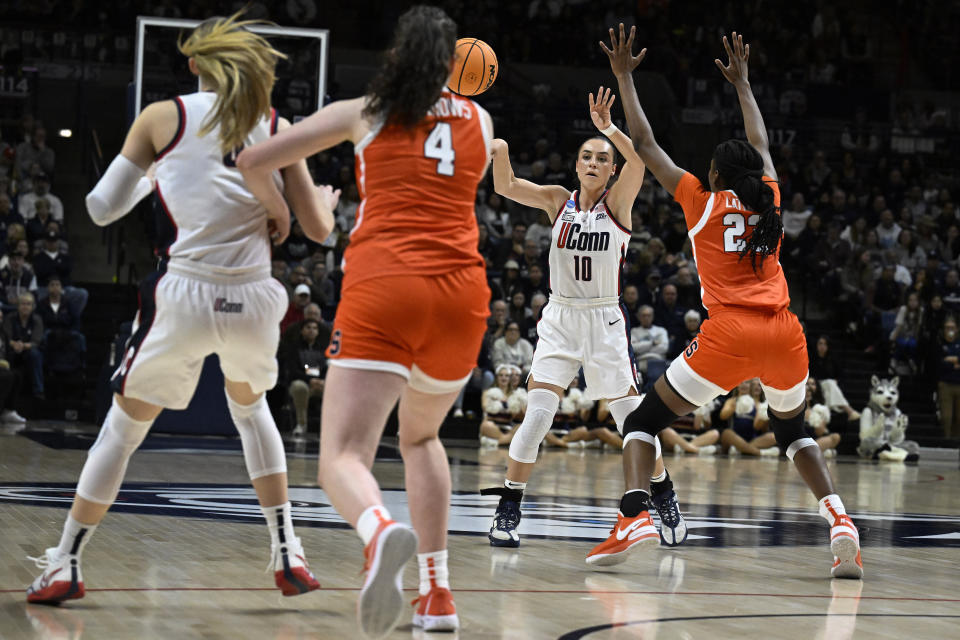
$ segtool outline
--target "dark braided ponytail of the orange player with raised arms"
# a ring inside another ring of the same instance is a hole
[[[750,256],[753,272],[763,268],[767,256],[776,256],[783,237],[780,207],[773,203],[773,189],[763,181],[763,158],[743,140],[727,140],[713,150],[713,162],[723,184],[760,220],[740,249],[740,259]],[[757,259],[759,257],[759,265]]]

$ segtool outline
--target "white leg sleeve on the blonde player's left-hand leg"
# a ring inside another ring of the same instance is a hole
[[[114,400],[97,441],[87,453],[77,481],[77,495],[90,502],[113,504],[127,472],[127,461],[147,437],[151,425],[152,420],[131,418]]]

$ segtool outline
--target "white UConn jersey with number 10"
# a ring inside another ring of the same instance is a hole
[[[605,191],[589,211],[570,195],[553,223],[550,291],[564,298],[618,298],[630,232],[607,208]]]

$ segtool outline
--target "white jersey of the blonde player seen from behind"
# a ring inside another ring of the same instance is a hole
[[[203,91],[174,99],[180,125],[157,155],[156,193],[166,213],[158,254],[198,268],[242,272],[270,265],[267,211],[247,189],[236,168],[240,149],[220,151],[219,127],[197,134],[216,94]],[[277,115],[264,118],[244,141],[261,142],[276,132]],[[282,190],[280,174],[274,174]]]

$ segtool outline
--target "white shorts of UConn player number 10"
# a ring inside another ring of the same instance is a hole
[[[640,389],[627,336],[627,321],[616,298],[550,296],[537,324],[537,348],[530,376],[558,387],[570,385],[580,367],[591,400],[620,398]]]

